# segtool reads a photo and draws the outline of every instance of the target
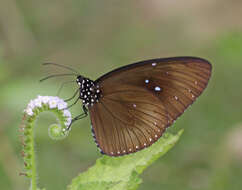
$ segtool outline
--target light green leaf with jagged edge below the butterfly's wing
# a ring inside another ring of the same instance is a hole
[[[142,182],[139,175],[178,141],[183,130],[165,133],[151,147],[121,157],[102,156],[86,172],[72,180],[68,190],[135,190]]]

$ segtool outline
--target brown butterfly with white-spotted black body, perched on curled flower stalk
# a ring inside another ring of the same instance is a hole
[[[135,153],[155,143],[201,95],[211,71],[205,59],[172,57],[123,66],[95,81],[76,74],[84,113],[72,123],[89,112],[102,154]]]

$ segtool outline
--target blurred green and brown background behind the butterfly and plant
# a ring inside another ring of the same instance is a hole
[[[100,75],[136,61],[199,56],[211,61],[208,89],[169,130],[185,129],[179,143],[148,168],[140,190],[239,190],[242,188],[242,1],[236,0],[0,0],[0,189],[28,189],[18,128],[30,99],[56,95],[65,70],[45,61]],[[77,86],[67,85],[62,98]],[[81,111],[81,104],[72,109]],[[100,157],[89,118],[53,141],[37,122],[41,187],[64,190]],[[115,174],[114,174],[115,175]]]

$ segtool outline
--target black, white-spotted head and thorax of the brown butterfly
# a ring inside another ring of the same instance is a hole
[[[100,98],[100,89],[98,85],[95,85],[94,81],[78,76],[76,79],[80,89],[80,99],[85,106],[92,106],[98,102]]]

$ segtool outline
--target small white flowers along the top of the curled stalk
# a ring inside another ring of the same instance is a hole
[[[71,113],[65,109],[67,108],[67,103],[57,96],[38,96],[29,102],[24,112],[32,116],[34,114],[33,110],[42,107],[42,105],[47,105],[50,109],[57,108],[58,110],[63,110],[63,115],[66,117],[65,125],[69,126],[71,124]]]

